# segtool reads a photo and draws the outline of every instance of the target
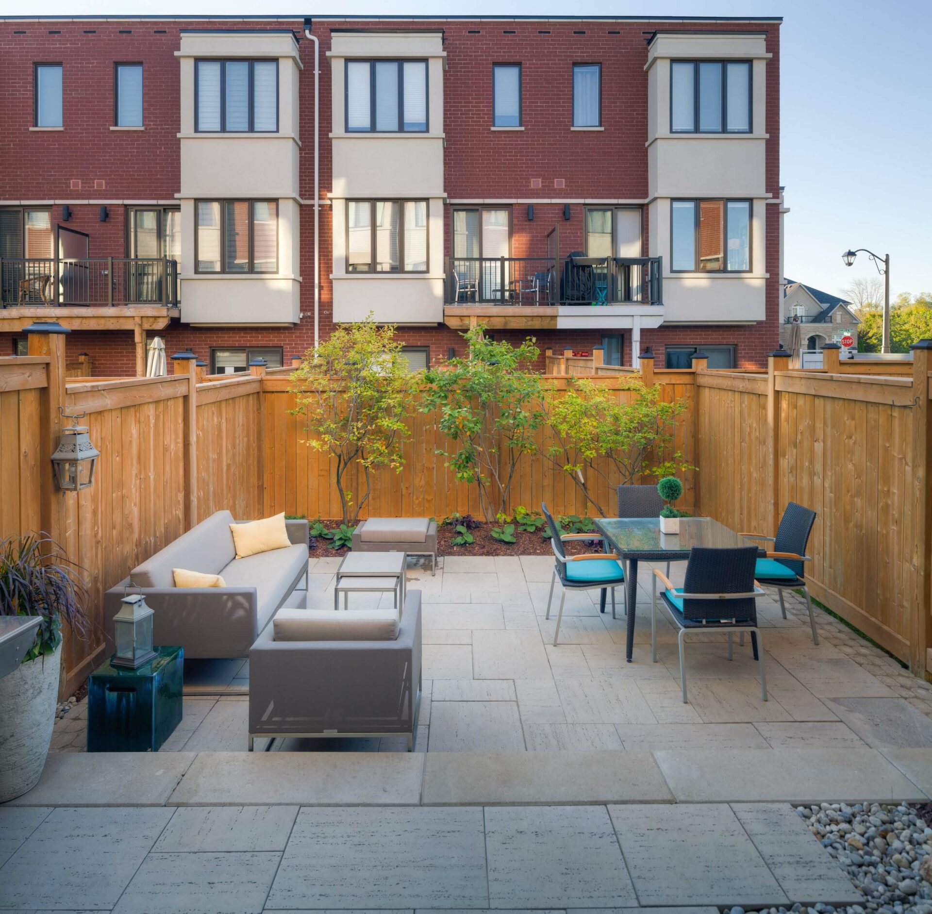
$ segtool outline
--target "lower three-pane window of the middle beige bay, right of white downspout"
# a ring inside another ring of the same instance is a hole
[[[348,200],[348,273],[426,273],[426,200]]]

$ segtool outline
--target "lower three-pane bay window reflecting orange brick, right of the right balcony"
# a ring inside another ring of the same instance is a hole
[[[750,223],[750,200],[673,200],[673,270],[747,272],[751,268]]]

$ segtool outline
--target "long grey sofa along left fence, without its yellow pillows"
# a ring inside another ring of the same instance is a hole
[[[293,545],[241,559],[229,531],[235,523],[228,511],[212,514],[103,594],[108,653],[114,649],[113,617],[131,581],[155,610],[155,644],[180,645],[192,660],[248,656],[276,610],[307,580],[308,522],[285,522]],[[172,568],[219,574],[226,587],[177,588]]]

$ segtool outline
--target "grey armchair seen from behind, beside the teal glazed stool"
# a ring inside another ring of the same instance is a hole
[[[352,640],[350,640],[352,639]],[[386,613],[282,609],[249,652],[249,748],[257,737],[406,736],[421,685],[420,591]]]

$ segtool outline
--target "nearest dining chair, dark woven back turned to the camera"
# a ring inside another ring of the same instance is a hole
[[[756,546],[709,549],[694,546],[686,566],[682,587],[674,587],[660,568],[653,569],[651,587],[651,655],[657,662],[657,581],[664,590],[661,599],[678,627],[679,683],[686,698],[686,633],[723,629],[728,633],[728,659],[732,659],[732,635],[751,633],[751,647],[761,676],[761,701],[767,701],[767,679],[763,669],[763,644],[757,625],[758,596],[764,592],[754,580]]]

